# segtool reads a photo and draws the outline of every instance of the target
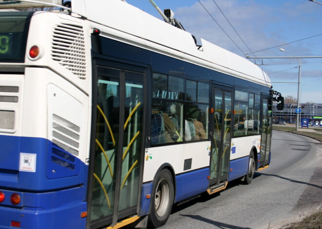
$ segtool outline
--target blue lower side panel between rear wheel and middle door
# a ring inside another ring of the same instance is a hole
[[[177,192],[175,203],[205,192],[209,186],[209,168],[176,176]]]

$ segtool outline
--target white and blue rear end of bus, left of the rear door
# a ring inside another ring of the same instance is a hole
[[[1,229],[86,225],[86,74],[59,53],[84,35],[61,17],[0,12]]]

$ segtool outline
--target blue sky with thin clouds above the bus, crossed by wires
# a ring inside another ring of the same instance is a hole
[[[126,2],[162,19],[149,0],[126,0]],[[322,56],[322,5],[310,0],[154,0],[154,2],[162,11],[171,9],[184,29],[195,35],[197,40],[203,38],[243,57],[246,54],[250,57],[291,56],[287,53],[294,56]],[[322,0],[317,2],[322,4]],[[280,49],[284,49],[287,53]],[[249,60],[254,62],[254,59]],[[259,58],[255,61],[268,73],[274,90],[281,92],[283,96],[298,97],[298,59]],[[300,61],[302,85],[300,101],[322,104],[322,58],[301,58]]]

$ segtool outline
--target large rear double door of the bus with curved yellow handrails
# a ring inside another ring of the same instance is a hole
[[[142,183],[145,69],[94,61],[88,228],[135,215]]]

